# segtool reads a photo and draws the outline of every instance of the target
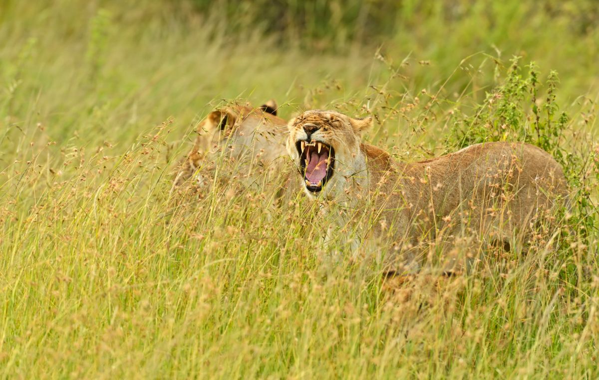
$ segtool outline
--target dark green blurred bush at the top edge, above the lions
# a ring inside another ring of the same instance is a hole
[[[193,0],[193,4],[196,11],[218,19],[228,34],[259,29],[280,43],[320,49],[389,36],[403,8],[385,0]]]

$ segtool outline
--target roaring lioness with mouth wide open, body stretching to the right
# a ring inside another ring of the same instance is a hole
[[[418,269],[423,253],[412,247],[425,241],[441,247],[452,247],[459,236],[526,241],[537,218],[565,196],[561,167],[533,145],[487,142],[403,163],[361,142],[372,123],[371,117],[306,111],[289,122],[287,150],[308,197],[328,205],[325,210],[337,207],[329,215],[346,224],[338,230],[358,223],[361,239],[377,235],[392,242],[386,258],[395,262],[391,270]]]

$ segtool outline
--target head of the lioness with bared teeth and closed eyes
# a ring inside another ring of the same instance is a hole
[[[371,117],[351,118],[336,111],[305,111],[289,123],[287,151],[303,177],[310,196],[331,193],[365,169],[359,154],[361,134]]]

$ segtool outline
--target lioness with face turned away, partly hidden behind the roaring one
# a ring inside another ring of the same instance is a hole
[[[286,156],[286,121],[277,117],[277,104],[268,101],[261,107],[249,103],[232,105],[212,111],[198,124],[198,136],[187,157],[182,160],[174,177],[173,189],[193,177],[204,186],[200,174],[202,165],[213,165],[226,156],[247,171],[256,168],[276,171]]]

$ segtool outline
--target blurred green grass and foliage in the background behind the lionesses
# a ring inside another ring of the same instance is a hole
[[[2,0],[0,123],[122,144],[169,117],[182,136],[223,99],[274,98],[285,117],[423,91],[467,107],[513,56],[557,71],[567,106],[597,98],[598,20],[594,0]]]

